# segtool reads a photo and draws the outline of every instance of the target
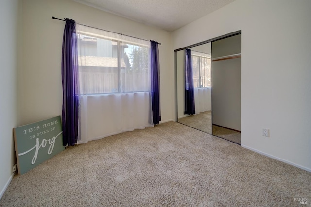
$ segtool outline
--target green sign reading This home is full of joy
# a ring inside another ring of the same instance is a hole
[[[18,174],[63,151],[63,131],[60,116],[14,128]]]

